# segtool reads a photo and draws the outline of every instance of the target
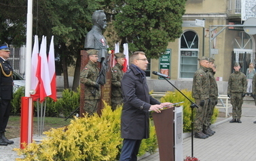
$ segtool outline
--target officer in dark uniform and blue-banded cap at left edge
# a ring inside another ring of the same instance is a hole
[[[5,43],[0,45],[0,145],[13,144],[14,141],[5,137],[5,129],[9,120],[12,99],[12,66],[7,58],[10,57],[10,49]]]

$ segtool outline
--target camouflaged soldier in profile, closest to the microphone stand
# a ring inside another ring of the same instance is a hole
[[[192,97],[196,100],[198,108],[196,108],[196,118],[194,121],[195,137],[206,139],[208,135],[202,132],[204,120],[206,119],[206,111],[208,108],[210,80],[208,71],[208,58],[200,57],[198,59],[200,68],[196,70],[193,78]]]

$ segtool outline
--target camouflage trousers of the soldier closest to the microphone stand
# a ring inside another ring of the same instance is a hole
[[[196,118],[194,118],[194,129],[196,133],[202,131],[203,126],[206,126],[206,112],[208,109],[208,99],[204,99],[204,106],[200,106],[200,99],[196,99],[196,104],[198,108],[196,108]]]

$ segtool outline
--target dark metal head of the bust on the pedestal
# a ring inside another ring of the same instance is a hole
[[[92,23],[101,30],[107,27],[107,18],[103,10],[97,10],[92,14]]]

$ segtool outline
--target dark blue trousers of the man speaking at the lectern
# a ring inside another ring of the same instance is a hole
[[[120,161],[136,161],[140,146],[141,140],[124,139]]]

